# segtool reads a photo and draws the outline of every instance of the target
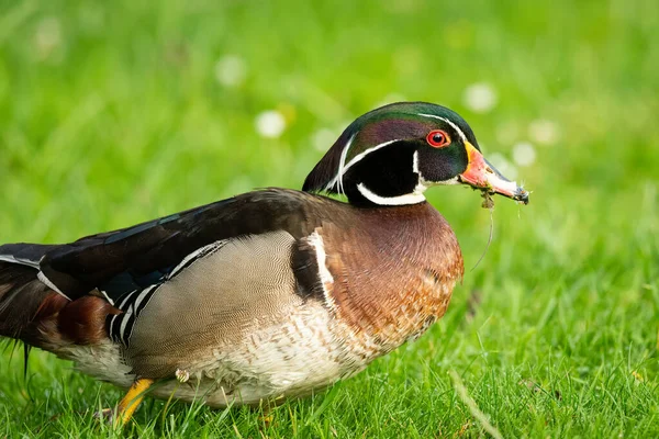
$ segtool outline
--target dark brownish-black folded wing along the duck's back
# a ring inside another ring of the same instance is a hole
[[[309,235],[314,227],[305,213],[310,196],[255,191],[71,244],[0,246],[0,258],[40,270],[38,279],[69,300],[98,291],[113,303],[165,282],[215,243],[275,230]]]

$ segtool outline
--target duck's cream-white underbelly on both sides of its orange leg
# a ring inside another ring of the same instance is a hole
[[[181,369],[190,375],[186,383],[172,376],[150,394],[168,398],[175,393],[188,402],[201,398],[213,407],[303,396],[368,364],[362,352],[347,349],[350,344],[342,339],[346,329],[319,302],[300,303],[282,324],[255,330],[233,348],[213,348],[197,357]],[[119,386],[127,387],[135,379],[114,344],[69,347],[60,354],[81,372]]]

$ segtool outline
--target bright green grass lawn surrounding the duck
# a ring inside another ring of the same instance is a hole
[[[322,155],[315,133],[392,95],[454,108],[509,160],[533,121],[558,127],[517,169],[532,203],[496,200],[474,270],[489,213],[474,192],[429,191],[467,272],[421,340],[276,408],[270,426],[147,399],[129,431],[487,435],[471,399],[503,437],[659,437],[659,3],[312,3],[0,1],[0,241],[300,188]],[[247,66],[237,87],[215,79],[226,54]],[[496,90],[492,111],[462,103],[474,82]],[[287,115],[278,139],[254,128],[269,109]],[[34,352],[23,379],[5,350],[0,378],[0,438],[111,434],[91,414],[121,392],[70,363]]]

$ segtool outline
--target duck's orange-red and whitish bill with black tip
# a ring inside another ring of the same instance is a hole
[[[516,182],[503,177],[473,145],[469,142],[466,142],[466,145],[469,165],[467,170],[460,173],[460,182],[528,204],[527,191],[518,187]]]

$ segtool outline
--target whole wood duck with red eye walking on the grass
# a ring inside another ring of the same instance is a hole
[[[0,336],[129,387],[122,421],[147,390],[213,407],[303,396],[444,315],[462,257],[424,191],[460,183],[528,202],[457,113],[382,106],[346,128],[302,191],[0,246]]]

